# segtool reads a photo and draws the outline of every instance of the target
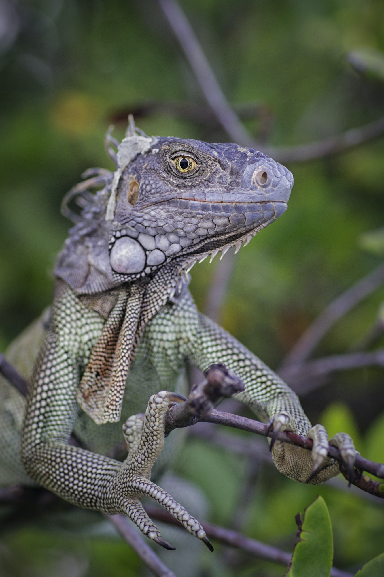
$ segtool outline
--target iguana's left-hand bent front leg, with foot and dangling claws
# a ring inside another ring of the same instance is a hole
[[[140,504],[141,496],[152,497],[212,548],[201,524],[149,480],[164,446],[165,412],[171,394],[162,391],[150,398],[142,428],[135,418],[127,421],[125,435],[131,450],[123,463],[67,444],[78,413],[81,367],[102,328],[99,314],[82,305],[70,290],[54,302],[29,392],[22,463],[35,481],[62,499],[108,514],[126,514],[149,538],[171,548]]]

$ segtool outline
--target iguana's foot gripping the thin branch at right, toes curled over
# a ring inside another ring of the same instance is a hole
[[[342,459],[347,466],[349,476],[353,474],[355,465],[356,449],[353,440],[347,433],[337,433],[328,440],[326,429],[322,425],[314,425],[306,436],[313,440],[312,451],[283,443],[277,439],[281,431],[298,433],[295,418],[287,411],[281,411],[270,419],[267,431],[273,431],[270,441],[273,462],[277,469],[287,477],[302,483],[317,485],[336,477],[340,473],[338,463],[330,459],[328,454],[329,445],[337,447]]]

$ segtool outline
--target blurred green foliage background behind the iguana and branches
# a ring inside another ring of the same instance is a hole
[[[180,6],[225,96],[261,147],[323,140],[384,115],[381,0],[180,0]],[[150,135],[234,139],[206,103],[156,0],[0,0],[0,86],[4,351],[51,301],[51,270],[70,226],[59,210],[63,195],[86,168],[114,168],[104,151],[111,123],[118,140],[129,113]],[[383,260],[384,137],[320,157],[287,162],[295,177],[288,211],[240,250],[233,265],[231,253],[221,261],[229,259],[221,270],[223,302],[212,314],[275,370],[325,307]],[[193,268],[190,287],[200,310],[210,312],[219,267],[217,258]],[[313,358],[381,351],[382,283],[384,276],[340,315],[310,351]],[[363,456],[384,462],[379,364],[352,363],[289,382],[312,422],[330,434],[350,433]],[[325,486],[290,481],[270,466],[263,439],[253,459],[225,444],[195,434],[177,467],[205,493],[212,522],[292,550],[296,513],[321,494],[337,567],[354,572],[384,551],[380,500],[348,492],[344,479]],[[1,575],[141,571],[129,546],[105,534],[75,537],[32,522],[3,529]],[[206,577],[284,571],[224,546],[216,550],[214,559],[204,553]]]

